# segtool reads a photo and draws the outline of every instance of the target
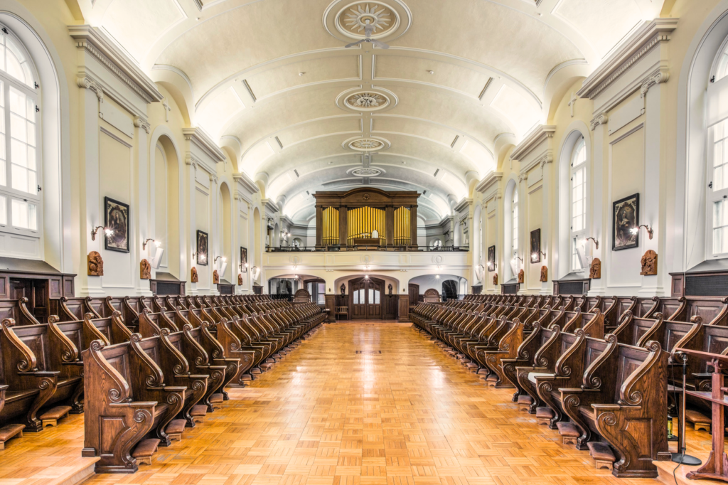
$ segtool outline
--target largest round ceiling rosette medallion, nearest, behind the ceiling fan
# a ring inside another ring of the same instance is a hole
[[[340,40],[363,39],[366,25],[372,39],[396,39],[412,25],[412,12],[402,0],[334,0],[323,13],[328,33]]]

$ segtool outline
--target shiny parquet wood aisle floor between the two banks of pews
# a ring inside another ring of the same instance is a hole
[[[85,483],[197,485],[657,484],[585,452],[409,324],[336,323],[160,448],[135,475]]]

